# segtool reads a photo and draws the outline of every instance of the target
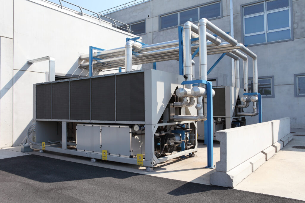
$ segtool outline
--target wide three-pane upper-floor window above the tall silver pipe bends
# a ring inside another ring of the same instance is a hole
[[[201,18],[215,19],[219,17],[221,17],[220,1],[160,16],[160,29],[183,25],[187,21],[195,23]]]

